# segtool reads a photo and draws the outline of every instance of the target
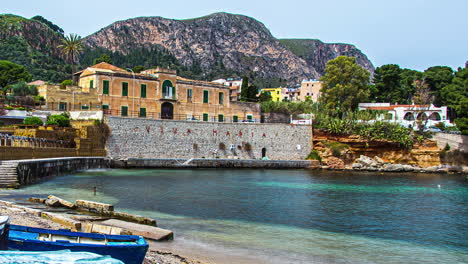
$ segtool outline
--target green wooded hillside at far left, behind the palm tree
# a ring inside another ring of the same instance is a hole
[[[70,67],[57,48],[63,35],[44,22],[16,15],[0,15],[0,60],[26,67],[35,79],[60,82]]]

